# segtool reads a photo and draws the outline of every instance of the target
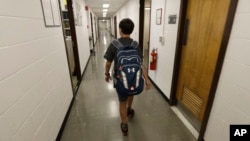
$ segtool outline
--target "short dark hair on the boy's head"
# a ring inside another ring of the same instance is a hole
[[[125,18],[120,21],[119,28],[124,34],[131,34],[134,30],[134,23],[131,19]]]

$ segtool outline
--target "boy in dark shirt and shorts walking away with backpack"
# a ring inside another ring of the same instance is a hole
[[[138,43],[130,38],[134,30],[134,23],[125,18],[119,23],[120,38],[115,39],[109,45],[104,58],[105,81],[111,80],[110,67],[114,61],[113,81],[119,98],[119,111],[121,117],[121,131],[128,134],[128,117],[135,114],[132,109],[134,95],[140,94],[146,84],[146,90],[150,89],[150,81],[142,65],[142,54]]]

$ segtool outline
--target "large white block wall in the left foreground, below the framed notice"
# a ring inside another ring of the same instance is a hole
[[[0,141],[54,141],[73,96],[62,27],[40,0],[0,3]]]

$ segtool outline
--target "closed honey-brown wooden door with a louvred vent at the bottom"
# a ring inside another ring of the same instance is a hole
[[[229,5],[230,0],[188,0],[176,97],[199,121],[204,116]]]

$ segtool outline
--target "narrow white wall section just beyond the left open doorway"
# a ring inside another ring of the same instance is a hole
[[[90,44],[89,44],[89,31],[87,28],[88,24],[88,11],[85,10],[85,1],[83,0],[74,0],[74,3],[78,3],[80,5],[80,13],[81,13],[81,23],[80,25],[76,25],[76,36],[77,36],[77,43],[78,43],[78,53],[80,59],[80,67],[81,73],[83,73],[89,56],[90,56]],[[90,21],[89,21],[90,22]],[[89,26],[90,28],[90,26]]]

